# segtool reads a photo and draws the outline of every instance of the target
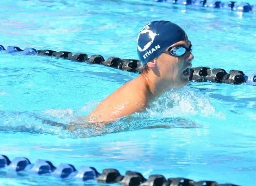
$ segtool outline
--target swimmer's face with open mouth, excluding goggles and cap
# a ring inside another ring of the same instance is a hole
[[[184,46],[189,48],[190,45],[191,42],[189,40],[182,40],[167,47],[166,50],[174,46]],[[168,88],[181,87],[188,84],[189,73],[184,71],[186,71],[186,69],[188,71],[192,67],[193,59],[194,56],[190,51],[186,51],[184,55],[179,57],[162,53],[158,58],[156,58],[159,76]]]

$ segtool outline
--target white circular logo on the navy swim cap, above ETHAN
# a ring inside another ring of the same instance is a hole
[[[156,36],[156,33],[149,30],[150,29],[149,28],[150,24],[151,23],[145,25],[141,29],[141,32],[138,34],[138,37],[137,37],[137,47],[138,47],[138,50],[141,51],[141,52],[145,51],[146,49],[148,49],[150,47],[150,45],[154,42],[154,39],[155,39],[155,36]],[[140,42],[140,44],[138,42],[139,39],[142,41],[142,42]]]

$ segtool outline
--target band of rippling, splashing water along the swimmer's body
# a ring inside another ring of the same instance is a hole
[[[62,138],[105,135],[107,133],[152,128],[197,128],[194,117],[225,118],[216,112],[208,96],[189,87],[173,89],[149,104],[145,112],[110,122],[104,127],[87,123],[85,117],[99,102],[87,103],[78,111],[47,109],[40,113],[1,112],[0,130],[50,133]]]

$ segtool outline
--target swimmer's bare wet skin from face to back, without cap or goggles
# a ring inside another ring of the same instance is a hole
[[[185,46],[189,48],[189,40],[179,41],[169,47]],[[194,56],[187,51],[180,57],[162,53],[148,62],[149,70],[137,78],[127,82],[118,90],[105,98],[86,119],[91,123],[105,125],[105,122],[129,116],[134,112],[142,112],[150,101],[172,88],[188,84],[188,75],[183,71],[192,67]]]

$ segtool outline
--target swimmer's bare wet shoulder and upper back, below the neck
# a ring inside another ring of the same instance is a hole
[[[105,98],[91,114],[88,120],[92,122],[111,121],[134,112],[141,112],[147,106],[150,94],[147,83],[142,75],[121,86]]]

